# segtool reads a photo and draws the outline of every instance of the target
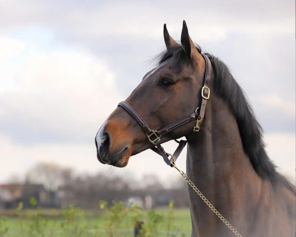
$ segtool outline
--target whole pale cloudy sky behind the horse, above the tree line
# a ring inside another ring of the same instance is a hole
[[[178,177],[151,151],[125,168],[103,165],[94,138],[165,49],[163,24],[180,40],[183,20],[191,39],[230,68],[269,157],[294,181],[295,1],[0,0],[0,182],[37,162]],[[178,164],[185,169],[185,152]]]

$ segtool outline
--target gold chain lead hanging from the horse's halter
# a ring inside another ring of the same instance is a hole
[[[237,230],[234,229],[232,225],[220,214],[220,212],[212,205],[212,203],[199,191],[199,189],[192,183],[192,181],[188,178],[188,176],[179,169],[175,162],[171,160],[171,164],[174,168],[176,168],[180,174],[185,178],[187,183],[191,186],[191,188],[194,190],[195,193],[207,204],[207,206],[216,214],[216,216],[219,217],[220,220],[237,236],[237,237],[243,237],[241,234],[238,233]]]

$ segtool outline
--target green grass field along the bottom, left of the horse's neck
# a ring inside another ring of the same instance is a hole
[[[116,208],[115,208],[116,209]],[[62,214],[61,214],[62,213]],[[145,221],[144,237],[190,236],[189,209],[160,208],[122,214],[122,210],[22,210],[0,217],[1,237],[132,237],[135,220]],[[2,220],[2,221],[1,221]],[[110,231],[112,230],[112,231]],[[169,233],[168,233],[169,231]]]

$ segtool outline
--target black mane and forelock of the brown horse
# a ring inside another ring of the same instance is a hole
[[[196,45],[201,52],[201,48]],[[270,160],[263,141],[263,129],[254,115],[252,106],[246,98],[245,92],[231,75],[227,66],[218,58],[206,53],[209,57],[215,74],[214,91],[225,100],[233,115],[236,118],[239,128],[243,148],[246,155],[257,172],[263,179],[269,179],[271,183],[280,182],[292,192],[296,192],[292,184],[280,173],[277,172],[277,166]],[[174,56],[173,66],[181,70],[184,63],[190,63],[185,55],[181,45],[171,47],[155,57],[158,64]]]

